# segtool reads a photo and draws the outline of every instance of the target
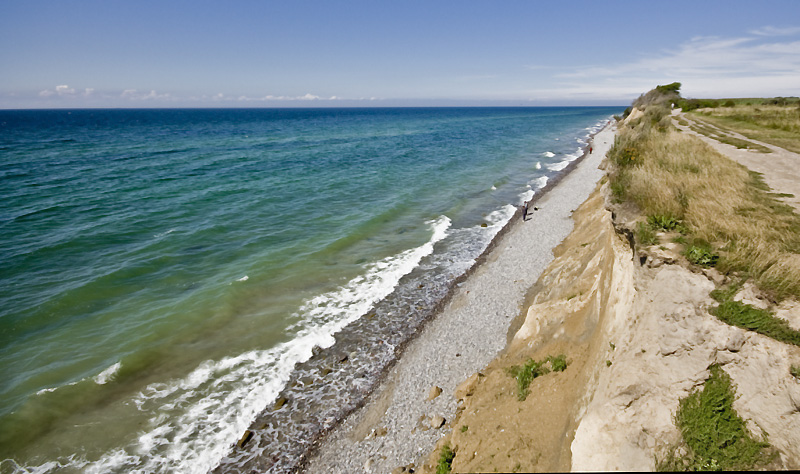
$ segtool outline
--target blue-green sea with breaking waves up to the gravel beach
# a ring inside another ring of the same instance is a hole
[[[621,112],[0,111],[0,472],[295,469]]]

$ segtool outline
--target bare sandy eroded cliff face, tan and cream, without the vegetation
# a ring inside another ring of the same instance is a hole
[[[800,349],[710,315],[719,275],[668,249],[634,251],[606,196],[600,185],[575,211],[506,351],[457,390],[461,411],[440,442],[456,452],[453,471],[653,470],[679,439],[679,400],[713,363],[733,379],[751,431],[769,434],[782,467],[800,467],[800,382],[789,371]],[[567,369],[534,379],[520,401],[508,368],[559,354]]]

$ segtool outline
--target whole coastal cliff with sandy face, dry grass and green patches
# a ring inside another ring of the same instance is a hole
[[[673,127],[679,86],[621,122],[606,177],[419,472],[800,468],[798,216],[778,200],[794,196]],[[765,247],[777,256],[741,254]]]

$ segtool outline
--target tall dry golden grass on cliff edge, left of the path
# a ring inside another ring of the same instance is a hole
[[[612,190],[647,216],[682,221],[720,254],[722,271],[744,271],[776,298],[800,297],[800,216],[760,177],[696,137],[659,131],[655,117],[620,128],[609,157]]]

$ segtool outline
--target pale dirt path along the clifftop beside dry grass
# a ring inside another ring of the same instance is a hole
[[[708,143],[712,148],[728,158],[746,166],[753,171],[763,174],[764,181],[766,181],[766,183],[774,192],[793,194],[794,197],[785,197],[783,198],[783,201],[800,211],[800,154],[784,150],[783,148],[770,145],[769,143],[753,140],[752,138],[745,137],[744,135],[740,135],[736,132],[720,130],[717,127],[713,127],[713,125],[704,122],[705,125],[716,128],[723,134],[763,145],[772,150],[772,153],[761,153],[758,151],[739,149],[733,145],[726,145],[714,140],[713,138],[709,138],[705,135],[697,133],[691,130],[689,126],[680,125],[677,120],[678,118],[682,118],[690,124],[697,123],[697,121],[680,112],[679,109],[676,110],[676,112],[673,112],[673,117],[673,123],[682,132],[690,133],[700,137],[701,140]]]

